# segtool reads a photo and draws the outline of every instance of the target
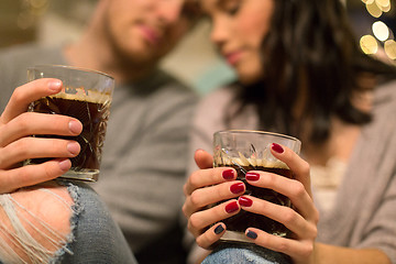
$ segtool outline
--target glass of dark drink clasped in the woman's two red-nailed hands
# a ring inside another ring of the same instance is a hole
[[[245,174],[249,170],[264,170],[293,178],[288,166],[271,154],[272,143],[282,144],[299,154],[301,142],[295,138],[250,130],[219,131],[213,135],[213,166],[233,167],[238,179],[242,180],[246,190],[244,195],[254,196],[276,205],[292,207],[290,200],[271,189],[249,185]],[[224,219],[227,231],[220,241],[252,243],[244,232],[248,228],[257,228],[278,237],[288,237],[289,231],[282,223],[267,217],[241,210],[238,215]]]

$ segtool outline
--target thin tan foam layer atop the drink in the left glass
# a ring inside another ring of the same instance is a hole
[[[66,88],[51,98],[61,98],[76,101],[88,101],[92,103],[108,103],[111,101],[109,94],[101,94],[95,90],[86,90],[84,88]]]

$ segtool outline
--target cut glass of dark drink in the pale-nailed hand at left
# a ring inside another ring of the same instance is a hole
[[[80,153],[70,158],[72,168],[62,178],[97,182],[100,172],[101,152],[107,121],[114,88],[114,79],[103,73],[62,65],[40,65],[28,69],[28,80],[57,78],[63,90],[54,96],[41,98],[30,105],[29,111],[64,114],[78,119],[82,132],[78,136],[52,136],[77,141]],[[38,164],[51,158],[34,158],[25,162]]]

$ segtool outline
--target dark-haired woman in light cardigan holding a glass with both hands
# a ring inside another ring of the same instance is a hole
[[[239,81],[204,99],[195,118],[191,147],[202,148],[195,153],[200,169],[185,185],[183,210],[197,244],[215,248],[227,229],[221,220],[246,210],[293,232],[285,239],[249,228],[258,263],[264,249],[293,263],[396,263],[396,69],[362,54],[339,0],[201,4],[211,40]],[[294,210],[234,194],[235,172],[210,168],[212,134],[224,129],[301,140],[301,157],[272,147],[296,179],[264,172],[248,178],[289,197]]]

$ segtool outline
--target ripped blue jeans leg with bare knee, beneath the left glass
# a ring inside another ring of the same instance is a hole
[[[0,263],[136,263],[95,190],[59,184],[0,195]]]

